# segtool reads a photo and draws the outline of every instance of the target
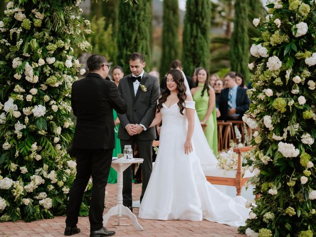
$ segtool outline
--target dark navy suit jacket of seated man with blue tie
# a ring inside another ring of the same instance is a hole
[[[236,114],[239,114],[238,120],[241,120],[243,114],[248,110],[250,100],[247,96],[246,89],[240,86],[237,87],[237,97],[236,97]],[[228,114],[228,93],[229,88],[222,89],[220,96],[216,100],[216,108],[221,112],[221,117],[218,120],[229,120],[227,118]]]

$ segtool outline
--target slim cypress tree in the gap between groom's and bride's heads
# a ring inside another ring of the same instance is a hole
[[[162,54],[160,75],[163,77],[172,60],[179,56],[179,6],[178,0],[163,1]]]

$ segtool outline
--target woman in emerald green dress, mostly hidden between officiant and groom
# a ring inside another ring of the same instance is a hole
[[[115,66],[112,71],[113,81],[118,86],[119,79],[124,77],[123,69],[120,66]],[[113,149],[113,157],[117,157],[119,153],[121,153],[120,149],[120,142],[118,139],[118,126],[119,126],[119,119],[117,112],[113,110],[113,118],[115,123],[115,148]],[[111,167],[109,177],[108,177],[108,183],[109,184],[115,184],[118,182],[118,173],[115,171],[114,168]]]

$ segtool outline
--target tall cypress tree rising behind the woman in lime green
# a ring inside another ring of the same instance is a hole
[[[187,0],[182,40],[182,62],[187,75],[192,75],[196,67],[209,66],[210,4],[209,0]]]

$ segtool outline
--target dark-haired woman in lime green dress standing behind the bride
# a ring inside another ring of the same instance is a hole
[[[196,102],[197,116],[203,127],[209,147],[217,155],[217,121],[215,91],[209,85],[209,77],[205,68],[197,71],[197,87],[191,89]]]

